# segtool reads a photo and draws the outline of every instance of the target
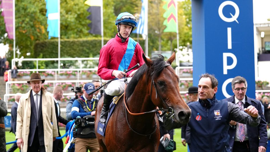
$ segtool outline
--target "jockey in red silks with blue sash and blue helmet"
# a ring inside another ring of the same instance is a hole
[[[107,111],[114,96],[119,96],[124,92],[125,83],[124,75],[128,77],[128,82],[134,73],[138,70],[135,68],[128,73],[123,72],[137,63],[144,64],[142,54],[143,49],[129,37],[130,33],[137,25],[135,17],[128,13],[120,13],[116,20],[117,34],[115,38],[110,39],[100,50],[99,66],[97,74],[104,80],[118,78],[112,81],[105,89],[103,107],[100,115],[100,122],[105,123]]]

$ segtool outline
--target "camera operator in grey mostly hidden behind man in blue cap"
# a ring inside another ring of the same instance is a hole
[[[75,99],[78,99],[79,97],[81,97],[83,95],[83,91],[82,91],[81,87],[76,87],[75,89],[76,89],[75,91],[74,91],[74,88],[71,89],[71,91],[75,93],[75,97],[71,98],[69,100],[69,103],[67,103],[67,106],[66,106],[66,119],[67,120],[73,120],[72,116],[71,116],[72,104],[73,104]]]

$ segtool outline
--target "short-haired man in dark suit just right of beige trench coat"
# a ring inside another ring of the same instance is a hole
[[[53,98],[55,101],[55,114],[56,114],[56,120],[57,120],[57,128],[58,128],[58,137],[61,137],[60,131],[59,131],[59,125],[58,123],[63,123],[65,125],[67,125],[67,123],[69,122],[68,120],[64,119],[63,117],[61,117],[60,115],[60,106],[58,101],[60,101],[60,99],[63,97],[63,89],[60,86],[56,86],[53,90]],[[53,152],[62,152],[63,151],[63,141],[62,139],[57,139],[55,141],[53,141]]]

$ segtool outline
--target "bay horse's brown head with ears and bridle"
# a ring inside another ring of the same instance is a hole
[[[176,122],[188,123],[191,110],[183,100],[179,93],[179,77],[171,67],[171,63],[175,59],[175,52],[165,62],[164,57],[151,60],[147,59],[143,54],[143,60],[149,67],[151,83],[150,98],[154,105],[164,109],[172,108]]]

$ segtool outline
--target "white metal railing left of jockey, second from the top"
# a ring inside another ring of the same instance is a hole
[[[39,71],[55,71],[55,81],[57,80],[57,75],[59,71],[77,71],[77,80],[80,78],[81,71],[97,71],[97,68],[85,68],[85,69],[18,69],[18,71],[31,71],[31,72],[39,72]],[[58,72],[58,73],[57,73]],[[11,70],[8,70],[7,77],[8,81],[10,81]]]

